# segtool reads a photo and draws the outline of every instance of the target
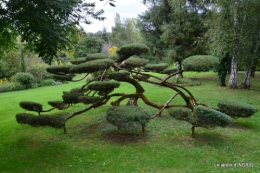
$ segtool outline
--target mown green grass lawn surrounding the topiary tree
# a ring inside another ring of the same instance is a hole
[[[216,107],[221,99],[234,99],[260,110],[259,72],[251,79],[251,90],[217,87],[213,72],[184,73],[184,76],[201,82],[187,87],[199,102]],[[242,73],[239,77],[243,77]],[[167,111],[161,118],[151,120],[145,133],[119,132],[106,121],[109,104],[69,120],[67,134],[62,129],[33,128],[16,122],[15,115],[25,112],[19,107],[20,101],[40,102],[49,109],[47,101],[57,100],[62,91],[81,84],[0,94],[0,173],[257,173],[260,170],[260,111],[251,118],[233,119],[226,128],[197,128],[195,138],[191,138],[190,124],[171,118]],[[146,96],[155,102],[166,102],[174,94],[162,87],[142,84]],[[132,86],[121,85],[116,91],[134,91]],[[172,102],[181,100],[176,98]],[[147,107],[142,103],[139,106]],[[75,105],[69,110],[81,108],[82,105]],[[68,115],[69,110],[63,114]]]

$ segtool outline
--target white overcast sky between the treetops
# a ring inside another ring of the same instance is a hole
[[[86,32],[97,32],[103,29],[103,26],[107,28],[107,31],[111,32],[112,26],[114,26],[114,19],[116,13],[122,18],[136,18],[138,14],[145,12],[147,9],[142,4],[142,0],[116,0],[114,3],[116,7],[110,6],[107,0],[100,2],[96,0],[96,10],[104,9],[103,16],[106,17],[105,21],[96,21],[92,19],[91,25],[82,25]]]

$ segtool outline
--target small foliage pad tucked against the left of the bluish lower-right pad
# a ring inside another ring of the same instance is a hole
[[[188,120],[192,115],[191,109],[184,107],[172,107],[169,108],[168,111],[171,117],[179,120]]]

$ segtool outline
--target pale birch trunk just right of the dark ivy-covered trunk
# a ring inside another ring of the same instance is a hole
[[[236,57],[236,49],[233,50],[232,60],[231,60],[231,70],[230,70],[230,78],[228,82],[228,88],[236,89],[237,88],[237,57]]]

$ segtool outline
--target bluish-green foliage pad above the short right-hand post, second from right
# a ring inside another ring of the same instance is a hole
[[[231,123],[228,115],[204,106],[196,106],[194,115],[190,119],[191,122],[202,127],[225,127]]]

